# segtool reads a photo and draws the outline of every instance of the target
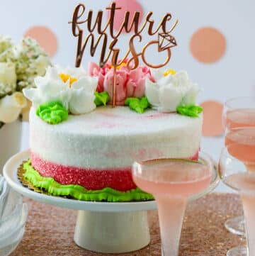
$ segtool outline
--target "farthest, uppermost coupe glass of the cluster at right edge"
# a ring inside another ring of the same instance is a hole
[[[255,127],[255,97],[229,99],[224,105],[223,123],[226,135],[234,128]],[[225,228],[235,235],[245,235],[244,218],[242,216],[230,218],[225,222]]]

